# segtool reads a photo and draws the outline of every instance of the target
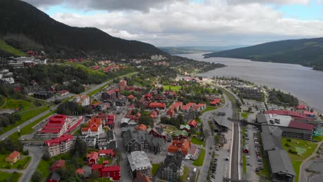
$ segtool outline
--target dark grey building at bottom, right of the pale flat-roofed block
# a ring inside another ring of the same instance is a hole
[[[177,176],[182,176],[184,172],[184,156],[179,152],[168,154],[164,163],[160,167],[161,179],[167,181],[177,181]]]

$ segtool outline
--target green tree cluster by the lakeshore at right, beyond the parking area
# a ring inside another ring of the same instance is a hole
[[[269,103],[276,105],[296,106],[298,99],[291,94],[286,94],[280,90],[271,90],[268,96]]]

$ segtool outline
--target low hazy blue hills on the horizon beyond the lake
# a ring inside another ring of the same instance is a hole
[[[228,45],[228,46],[166,46],[159,47],[160,50],[168,54],[193,54],[199,52],[217,52],[222,50],[230,50],[235,48],[242,48],[248,45]]]

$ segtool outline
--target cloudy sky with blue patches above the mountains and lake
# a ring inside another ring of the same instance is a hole
[[[323,37],[323,0],[23,0],[69,26],[156,46]]]

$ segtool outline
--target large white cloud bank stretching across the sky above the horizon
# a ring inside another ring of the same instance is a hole
[[[280,12],[259,3],[209,3],[178,1],[149,12],[59,13],[52,17],[70,26],[96,27],[115,37],[154,45],[253,44],[320,37],[323,32],[322,21],[284,19]]]

